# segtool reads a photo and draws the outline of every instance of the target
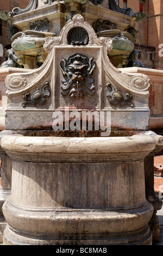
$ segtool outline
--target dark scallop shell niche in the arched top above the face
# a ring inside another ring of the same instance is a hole
[[[75,27],[68,32],[67,41],[70,45],[87,45],[89,43],[89,35],[84,28]]]

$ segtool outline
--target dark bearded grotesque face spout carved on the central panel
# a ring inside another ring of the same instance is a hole
[[[70,94],[72,98],[79,99],[95,93],[94,78],[91,77],[96,68],[93,58],[89,59],[84,54],[75,53],[61,60],[60,65],[64,77],[61,81],[62,95]]]

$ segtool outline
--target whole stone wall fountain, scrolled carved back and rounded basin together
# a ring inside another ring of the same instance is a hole
[[[111,38],[80,14],[43,48],[39,69],[5,80],[4,245],[151,245],[163,141],[149,131],[149,78],[116,69]]]

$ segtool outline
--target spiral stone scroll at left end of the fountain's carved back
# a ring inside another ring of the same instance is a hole
[[[23,87],[25,87],[27,84],[26,78],[23,77],[22,75],[9,75],[5,79],[5,85],[8,87],[10,90],[18,90]]]

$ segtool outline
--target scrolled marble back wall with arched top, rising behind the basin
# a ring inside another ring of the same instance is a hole
[[[149,78],[121,72],[111,64],[108,57],[112,50],[111,38],[98,38],[84,18],[75,15],[59,36],[48,36],[43,47],[48,56],[39,69],[26,74],[11,74],[5,80],[8,128],[15,116],[21,119],[24,113],[27,120],[22,129],[40,122],[42,126],[51,126],[52,113],[69,107],[78,111],[111,111],[114,127],[148,129]],[[33,103],[36,89],[46,83],[49,84],[49,94],[45,95],[45,101]],[[110,92],[108,84],[111,84]],[[28,104],[22,106],[23,95],[29,97]],[[38,121],[38,113],[45,119]]]

